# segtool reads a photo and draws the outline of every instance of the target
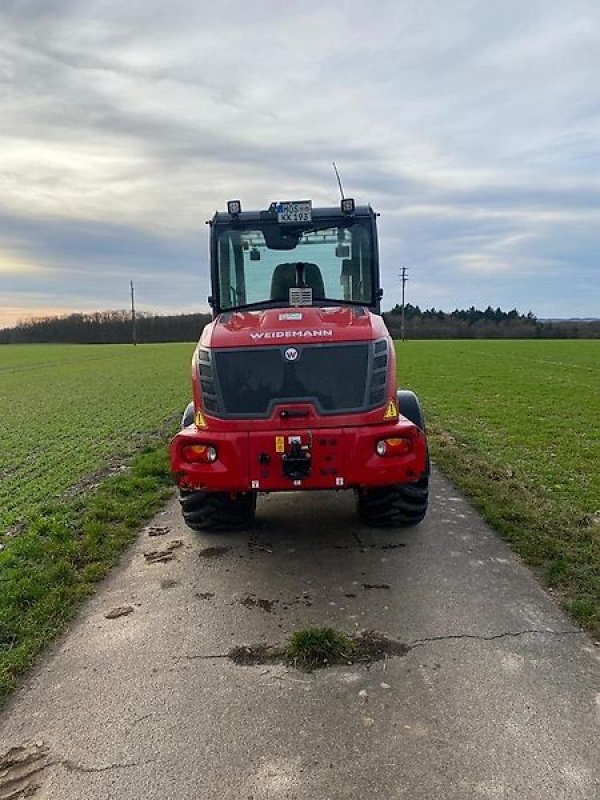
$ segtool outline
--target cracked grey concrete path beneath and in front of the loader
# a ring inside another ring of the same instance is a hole
[[[255,532],[218,536],[174,502],[0,717],[0,798],[600,798],[600,648],[433,490],[400,532],[346,493],[261,499]],[[410,649],[313,674],[227,657],[324,624]]]

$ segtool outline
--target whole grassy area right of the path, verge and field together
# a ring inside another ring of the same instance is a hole
[[[600,636],[600,341],[397,343],[436,465]]]

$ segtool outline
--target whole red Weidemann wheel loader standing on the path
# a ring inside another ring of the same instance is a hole
[[[244,527],[258,493],[314,489],[352,490],[369,525],[420,522],[427,440],[396,385],[372,208],[234,200],[209,225],[213,321],[170,448],[187,525]]]

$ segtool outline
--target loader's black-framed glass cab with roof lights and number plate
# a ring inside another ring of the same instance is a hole
[[[380,313],[376,215],[350,199],[242,211],[239,201],[210,221],[213,312],[302,305],[367,307]]]

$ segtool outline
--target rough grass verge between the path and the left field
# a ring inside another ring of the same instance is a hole
[[[164,441],[91,493],[37,509],[0,552],[0,705],[171,492]]]

